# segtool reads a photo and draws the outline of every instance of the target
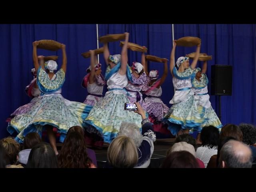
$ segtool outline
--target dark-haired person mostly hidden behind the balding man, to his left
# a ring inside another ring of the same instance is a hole
[[[207,167],[206,168],[218,168],[218,160],[219,160],[219,157],[220,157],[220,150],[222,148],[222,146],[228,142],[229,140],[236,140],[236,138],[234,137],[223,137],[223,138],[219,138],[219,141],[218,141],[218,153],[217,155],[213,155],[210,160],[209,160],[209,163],[207,164]]]

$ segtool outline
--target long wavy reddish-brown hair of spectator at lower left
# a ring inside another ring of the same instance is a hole
[[[69,132],[64,140],[58,164],[60,168],[90,168],[91,159],[86,152],[84,136],[80,132]]]

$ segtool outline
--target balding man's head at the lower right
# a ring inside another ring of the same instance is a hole
[[[246,144],[230,140],[220,150],[219,167],[225,168],[251,168],[252,152]]]

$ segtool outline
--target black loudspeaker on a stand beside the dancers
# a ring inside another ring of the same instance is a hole
[[[212,65],[211,95],[232,95],[231,65]]]

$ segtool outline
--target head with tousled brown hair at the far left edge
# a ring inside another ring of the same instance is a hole
[[[1,143],[6,152],[7,164],[16,164],[20,145],[11,137],[2,139]]]

